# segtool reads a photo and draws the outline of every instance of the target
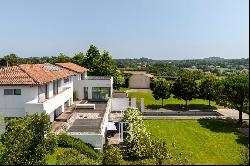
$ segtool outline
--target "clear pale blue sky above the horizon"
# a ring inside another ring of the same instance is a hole
[[[0,57],[249,56],[248,0],[0,0]]]

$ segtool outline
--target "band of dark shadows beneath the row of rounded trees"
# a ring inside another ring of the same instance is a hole
[[[181,111],[186,111],[186,106],[183,104],[165,104],[163,107],[161,105],[157,104],[151,104],[146,106],[147,109],[160,109],[160,108],[165,108],[168,110],[181,110]],[[213,110],[216,110],[217,108],[215,106],[210,107]],[[208,111],[209,106],[206,104],[188,104],[188,110],[204,110]]]

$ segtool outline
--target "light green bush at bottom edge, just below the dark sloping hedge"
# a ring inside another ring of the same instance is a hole
[[[88,158],[75,149],[65,149],[56,156],[57,165],[97,165],[98,161]]]

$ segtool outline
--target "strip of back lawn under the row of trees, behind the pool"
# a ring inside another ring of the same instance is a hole
[[[164,106],[161,106],[161,100],[155,100],[152,93],[143,93],[143,92],[129,92],[129,97],[131,98],[144,98],[145,108],[147,109],[169,109],[169,110],[185,110],[186,102],[184,100],[178,100],[171,96],[169,99],[164,100]],[[211,101],[212,109],[223,108],[222,106],[216,105],[215,102]],[[208,101],[202,99],[193,99],[188,101],[189,109],[199,109],[207,110],[209,109]]]

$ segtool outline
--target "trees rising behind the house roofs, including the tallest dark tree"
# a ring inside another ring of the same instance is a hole
[[[114,89],[119,88],[125,82],[124,75],[118,70],[109,52],[104,50],[101,53],[94,45],[90,45],[86,53],[79,52],[73,57],[69,57],[63,53],[60,53],[59,56],[29,58],[21,58],[15,54],[10,54],[0,58],[0,68],[18,64],[55,64],[67,62],[72,62],[88,68],[88,75],[112,76],[114,78]]]

